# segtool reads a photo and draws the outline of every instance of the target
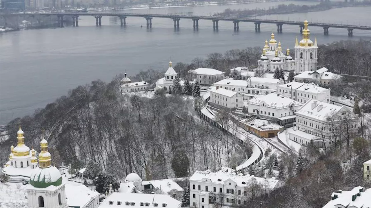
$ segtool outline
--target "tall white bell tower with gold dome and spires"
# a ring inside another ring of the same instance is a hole
[[[315,38],[313,43],[313,41],[309,38],[309,35],[310,30],[308,29],[308,21],[305,20],[303,38],[300,42],[298,42],[298,38],[295,40],[295,73],[317,70],[317,38]]]

